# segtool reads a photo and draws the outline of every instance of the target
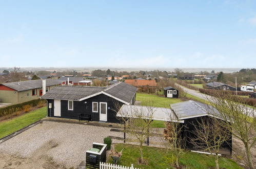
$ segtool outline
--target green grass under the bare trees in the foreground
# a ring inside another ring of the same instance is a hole
[[[173,154],[170,150],[160,149],[156,147],[143,146],[143,155],[147,159],[148,164],[137,164],[137,159],[140,157],[139,147],[129,144],[115,144],[115,150],[121,151],[123,154],[117,164],[139,168],[173,168]],[[112,162],[112,159],[108,162]],[[198,154],[186,152],[181,155],[180,164],[186,168],[214,168],[214,157],[212,155]],[[241,168],[234,161],[220,157],[220,168]]]

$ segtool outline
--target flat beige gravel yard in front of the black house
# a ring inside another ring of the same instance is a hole
[[[44,121],[0,144],[0,168],[70,168],[85,160],[93,142],[122,132],[93,125]],[[122,140],[112,139],[113,143]],[[4,155],[3,155],[4,154]]]

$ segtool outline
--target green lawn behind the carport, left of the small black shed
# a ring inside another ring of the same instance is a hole
[[[166,98],[153,94],[136,93],[136,100],[141,101],[140,105],[170,108],[170,104],[181,102],[178,98]],[[165,128],[164,121],[153,120],[152,128]]]

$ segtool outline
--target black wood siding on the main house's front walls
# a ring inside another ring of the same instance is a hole
[[[85,103],[86,102],[86,103]],[[98,112],[92,112],[92,102],[98,102]],[[118,123],[119,120],[116,118],[116,112],[114,111],[115,105],[123,105],[124,103],[117,101],[109,96],[100,94],[83,101],[73,101],[73,110],[68,110],[68,100],[61,100],[61,118],[79,119],[80,114],[90,114],[93,121],[100,121],[100,102],[107,102],[107,122]],[[132,99],[131,104],[135,102]],[[54,100],[48,99],[48,105],[52,103],[52,109],[48,108],[48,116],[54,117]],[[51,113],[50,113],[51,112]]]

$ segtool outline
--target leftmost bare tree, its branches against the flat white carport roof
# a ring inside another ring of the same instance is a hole
[[[121,109],[119,111],[121,115],[120,120],[125,126],[124,132],[130,134],[136,141],[139,141],[140,162],[145,163],[142,146],[145,140],[151,135],[151,122],[155,108],[149,106],[126,106],[128,106],[127,109]]]

